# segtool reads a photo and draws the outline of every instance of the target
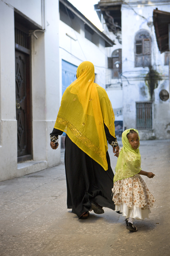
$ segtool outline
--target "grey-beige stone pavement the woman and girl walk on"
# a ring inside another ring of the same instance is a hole
[[[170,255],[169,140],[141,141],[140,153],[142,169],[155,174],[142,177],[156,203],[149,219],[135,221],[137,232],[128,231],[124,217],[107,208],[103,215],[91,212],[87,220],[78,220],[66,208],[62,158],[56,167],[0,182],[0,255]],[[109,154],[114,169],[111,146]]]

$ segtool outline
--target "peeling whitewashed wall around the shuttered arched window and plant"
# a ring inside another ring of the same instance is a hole
[[[131,1],[128,5],[122,6],[122,62],[123,62],[123,116],[124,126],[127,128],[136,127],[136,101],[150,100],[148,88],[144,82],[144,75],[148,73],[148,68],[135,68],[135,34],[140,29],[149,31],[152,40],[152,66],[162,74],[163,80],[159,82],[159,86],[155,89],[153,102],[153,130],[140,131],[141,139],[166,139],[170,137],[169,124],[169,100],[161,101],[159,92],[162,89],[169,91],[168,86],[168,66],[164,66],[164,53],[160,54],[153,22],[153,10],[157,7],[159,10],[170,12],[170,6],[164,1],[153,4],[152,1],[147,4],[133,4]],[[136,2],[136,1],[135,1]],[[143,2],[144,3],[144,2]],[[167,3],[167,2],[166,2]],[[143,18],[143,17],[144,18]],[[150,24],[148,24],[148,22]],[[148,26],[152,25],[152,26]]]

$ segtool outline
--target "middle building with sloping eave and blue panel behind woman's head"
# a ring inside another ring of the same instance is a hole
[[[69,84],[76,80],[77,67],[86,60],[94,65],[95,82],[106,88],[106,49],[114,42],[67,0],[60,0],[59,12],[60,99]],[[60,139],[64,148],[65,134]]]

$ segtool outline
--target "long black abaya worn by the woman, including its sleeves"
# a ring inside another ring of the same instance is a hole
[[[105,126],[106,137],[109,143],[116,139],[112,137]],[[52,136],[62,132],[54,129]],[[87,154],[85,154],[69,137],[65,137],[65,173],[67,183],[67,208],[71,208],[78,218],[91,209],[91,201],[102,207],[114,210],[112,201],[113,171],[110,158],[106,154],[108,170]]]

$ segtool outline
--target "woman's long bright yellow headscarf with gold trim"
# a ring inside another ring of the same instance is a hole
[[[93,64],[82,62],[77,69],[77,80],[63,94],[54,127],[65,132],[72,142],[107,170],[104,122],[115,137],[114,113],[106,91],[94,83],[94,78]]]

